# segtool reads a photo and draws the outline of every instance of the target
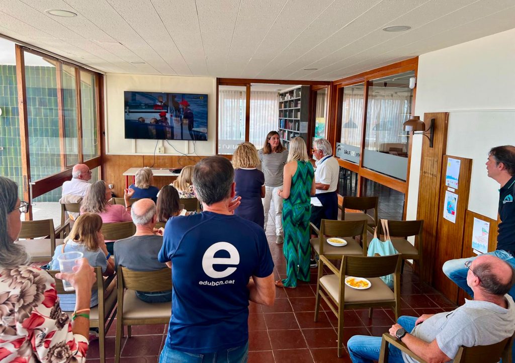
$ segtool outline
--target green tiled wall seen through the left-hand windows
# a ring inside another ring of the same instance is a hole
[[[22,184],[18,87],[14,65],[0,65],[0,175]],[[26,66],[27,116],[29,126],[30,174],[32,181],[61,170],[56,68]],[[78,161],[77,103],[75,77],[63,72],[63,103],[68,164]],[[90,88],[81,85],[81,91]],[[91,92],[91,91],[90,91]],[[85,92],[88,93],[88,92]],[[84,108],[83,108],[84,109]],[[22,195],[21,186],[19,188]],[[35,202],[58,201],[61,188],[36,198]]]

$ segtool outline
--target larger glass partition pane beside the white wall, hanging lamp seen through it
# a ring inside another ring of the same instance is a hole
[[[406,72],[370,81],[363,166],[406,180],[409,151],[402,124],[409,119],[413,90]]]

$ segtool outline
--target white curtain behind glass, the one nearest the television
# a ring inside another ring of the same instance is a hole
[[[218,140],[245,141],[245,91],[218,91]]]

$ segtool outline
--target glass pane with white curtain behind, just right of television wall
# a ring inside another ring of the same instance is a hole
[[[218,153],[233,154],[245,141],[245,87],[218,88]]]

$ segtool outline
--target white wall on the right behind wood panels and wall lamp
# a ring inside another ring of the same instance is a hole
[[[513,39],[515,29],[421,55],[418,64],[415,114],[450,113],[447,153],[473,160],[468,209],[493,219],[499,184],[487,177],[485,162],[491,147],[515,145]],[[406,219],[417,216],[421,145],[416,135]]]

